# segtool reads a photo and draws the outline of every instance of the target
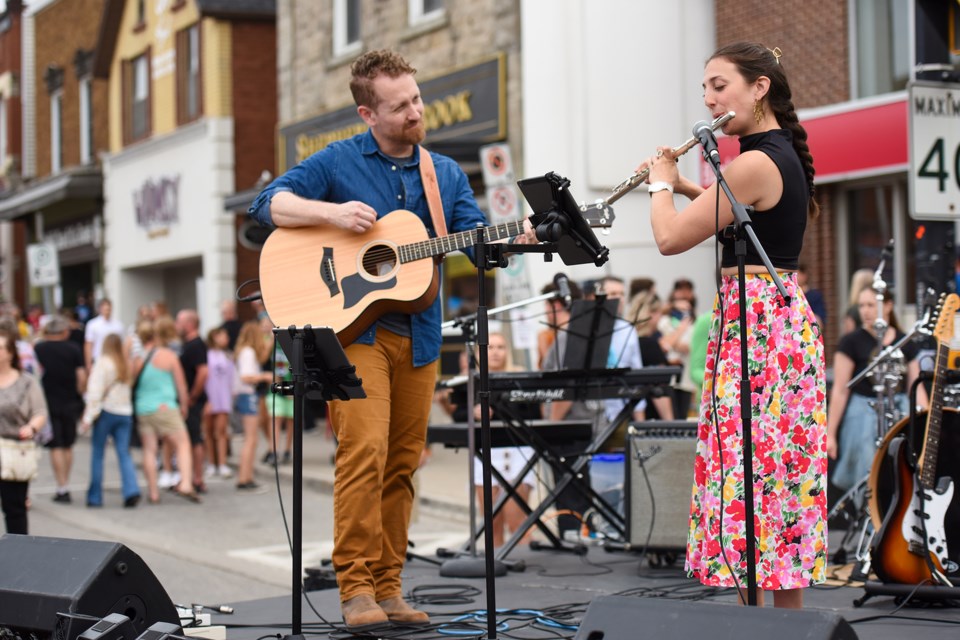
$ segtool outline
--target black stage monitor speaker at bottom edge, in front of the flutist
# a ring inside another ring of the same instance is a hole
[[[593,600],[574,640],[634,640],[639,637],[857,640],[850,624],[828,611],[625,596],[602,596]]]

